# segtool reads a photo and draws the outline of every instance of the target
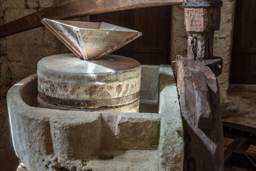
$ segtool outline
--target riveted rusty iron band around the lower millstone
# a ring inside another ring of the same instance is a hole
[[[102,99],[102,100],[70,100],[62,99],[57,97],[47,96],[38,92],[38,96],[49,103],[54,103],[59,106],[67,106],[74,108],[86,108],[86,107],[102,107],[102,106],[113,106],[119,105],[127,102],[135,101],[140,97],[140,91],[131,94],[129,96],[118,97],[113,99]]]

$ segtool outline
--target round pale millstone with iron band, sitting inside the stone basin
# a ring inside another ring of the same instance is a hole
[[[37,65],[38,106],[61,110],[138,112],[140,63],[107,55],[84,61],[74,54],[41,59]]]

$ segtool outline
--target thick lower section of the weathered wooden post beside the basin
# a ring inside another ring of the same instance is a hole
[[[223,171],[223,130],[216,76],[209,67],[203,65],[203,62],[187,59],[186,56],[177,56],[174,69],[184,126],[184,171]],[[201,78],[204,76],[205,80],[195,79],[198,75]],[[198,101],[195,89],[200,87],[200,90],[204,90],[206,85],[209,90],[209,99],[206,94],[204,99],[207,99],[211,107],[212,122],[210,129],[200,129],[196,111],[206,109],[207,104]]]

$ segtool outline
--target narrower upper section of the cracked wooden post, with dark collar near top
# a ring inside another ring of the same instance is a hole
[[[188,2],[216,2],[219,0],[188,0]],[[214,31],[220,28],[221,7],[185,7],[184,25],[188,32],[188,58],[213,58]]]

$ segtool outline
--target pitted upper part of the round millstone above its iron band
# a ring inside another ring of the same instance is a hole
[[[101,100],[140,90],[141,66],[134,59],[107,55],[84,61],[74,54],[45,57],[38,62],[39,92],[62,99]]]

